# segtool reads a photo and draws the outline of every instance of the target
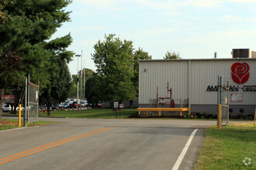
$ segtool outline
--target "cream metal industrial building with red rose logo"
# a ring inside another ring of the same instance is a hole
[[[139,71],[140,107],[170,107],[174,99],[175,107],[216,114],[218,76],[223,76],[230,112],[254,114],[254,58],[140,60]]]

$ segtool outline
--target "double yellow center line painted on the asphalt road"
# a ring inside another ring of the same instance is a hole
[[[47,145],[43,145],[43,146],[40,146],[40,147],[37,147],[37,148],[29,149],[27,151],[22,151],[22,152],[20,152],[16,155],[10,155],[10,156],[7,156],[5,158],[0,158],[0,165],[5,164],[6,162],[12,162],[16,159],[26,157],[28,155],[33,155],[37,152],[44,151],[44,150],[47,150],[48,148],[53,148],[53,147],[58,146],[58,145],[65,144],[65,143],[70,142],[70,141],[74,141],[74,140],[77,140],[77,139],[80,139],[80,138],[85,138],[85,137],[90,136],[92,134],[98,134],[99,132],[102,132],[102,131],[108,131],[108,130],[111,130],[113,128],[116,128],[116,127],[102,128],[102,129],[91,131],[91,132],[88,132],[88,133],[85,133],[85,134],[79,134],[79,135],[71,137],[71,138],[62,139],[61,141],[55,141],[55,142],[47,144]]]

